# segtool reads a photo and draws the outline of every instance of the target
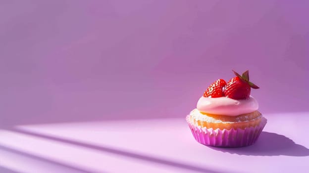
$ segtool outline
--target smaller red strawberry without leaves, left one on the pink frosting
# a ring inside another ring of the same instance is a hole
[[[212,83],[204,92],[204,97],[223,97],[223,87],[226,85],[226,82],[223,79],[218,79]]]

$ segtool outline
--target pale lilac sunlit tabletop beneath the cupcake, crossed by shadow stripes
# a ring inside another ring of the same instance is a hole
[[[308,112],[264,116],[256,143],[241,148],[198,143],[184,117],[20,125],[0,130],[0,166],[27,173],[308,170]]]

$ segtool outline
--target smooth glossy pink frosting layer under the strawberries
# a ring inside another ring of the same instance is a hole
[[[254,112],[258,109],[258,103],[255,98],[234,100],[228,97],[208,98],[202,96],[197,104],[200,112],[216,115],[238,116]]]

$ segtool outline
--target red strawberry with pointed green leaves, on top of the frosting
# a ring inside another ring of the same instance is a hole
[[[249,71],[240,76],[233,70],[236,77],[232,78],[225,86],[224,95],[233,99],[247,99],[250,96],[251,88],[257,89],[255,84],[249,81]]]

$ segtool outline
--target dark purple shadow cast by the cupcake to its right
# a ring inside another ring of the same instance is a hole
[[[214,150],[248,156],[309,156],[309,149],[292,139],[277,133],[262,131],[257,142],[240,148],[217,148]]]

